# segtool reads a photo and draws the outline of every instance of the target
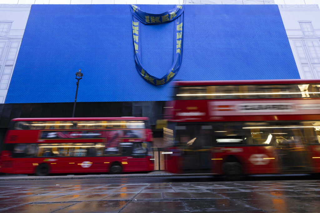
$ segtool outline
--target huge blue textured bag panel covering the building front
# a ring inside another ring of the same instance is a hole
[[[174,5],[140,5],[150,13]],[[277,5],[185,5],[175,80],[300,79]],[[173,23],[140,28],[142,63],[172,65]],[[32,5],[5,103],[169,100],[136,71],[129,5]]]

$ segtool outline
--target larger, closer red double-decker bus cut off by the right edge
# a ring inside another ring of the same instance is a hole
[[[320,80],[176,81],[165,114],[170,172],[320,172]]]

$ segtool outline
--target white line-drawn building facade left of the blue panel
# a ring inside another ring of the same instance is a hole
[[[0,103],[4,103],[31,4],[0,4]]]

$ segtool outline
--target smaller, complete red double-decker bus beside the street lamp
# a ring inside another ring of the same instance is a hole
[[[0,172],[32,174],[152,171],[148,118],[16,118]]]

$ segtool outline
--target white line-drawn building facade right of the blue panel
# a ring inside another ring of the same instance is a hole
[[[301,79],[320,79],[320,9],[278,5]]]

